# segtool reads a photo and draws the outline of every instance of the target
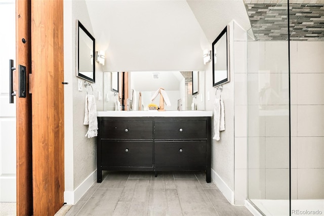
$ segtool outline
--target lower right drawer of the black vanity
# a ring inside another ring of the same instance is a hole
[[[204,167],[207,141],[155,141],[155,167]]]

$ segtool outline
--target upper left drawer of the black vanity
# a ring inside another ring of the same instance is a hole
[[[101,121],[101,138],[152,139],[152,121]]]

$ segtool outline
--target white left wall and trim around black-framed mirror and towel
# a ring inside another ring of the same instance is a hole
[[[69,204],[74,204],[95,181],[94,172],[97,166],[96,138],[85,137],[88,126],[83,125],[87,91],[85,87],[82,91],[78,91],[79,79],[75,76],[77,20],[96,38],[96,35],[93,34],[85,1],[64,1],[64,80],[69,83],[65,85],[64,89],[64,200]],[[96,81],[103,79],[102,74],[102,68],[96,63]],[[82,80],[82,82],[84,81]],[[98,90],[102,92],[102,84],[92,84],[92,86],[98,99]],[[89,89],[89,92],[92,92],[92,90]],[[97,109],[102,110],[102,105],[99,105]],[[92,177],[92,181],[83,184],[86,179],[89,179],[89,176]]]

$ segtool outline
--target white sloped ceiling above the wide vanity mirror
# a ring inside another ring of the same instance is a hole
[[[201,70],[224,26],[250,28],[242,0],[85,1],[104,71]]]

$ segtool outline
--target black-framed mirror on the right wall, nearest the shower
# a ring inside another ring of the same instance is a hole
[[[229,82],[229,45],[227,26],[212,44],[213,87]]]

